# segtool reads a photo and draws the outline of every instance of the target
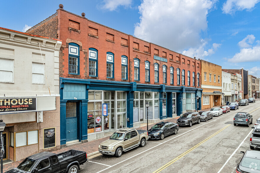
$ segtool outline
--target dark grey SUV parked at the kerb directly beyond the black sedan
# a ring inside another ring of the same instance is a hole
[[[200,124],[200,114],[198,112],[186,112],[177,119],[177,124],[179,125],[189,125],[198,123]]]

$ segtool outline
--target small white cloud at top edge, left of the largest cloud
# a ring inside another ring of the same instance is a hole
[[[132,0],[104,0],[102,3],[102,9],[108,9],[114,11],[119,6],[128,7],[132,3]]]

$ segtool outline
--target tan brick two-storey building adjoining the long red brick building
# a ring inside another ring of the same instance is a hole
[[[201,109],[222,104],[222,69],[221,66],[201,61]]]

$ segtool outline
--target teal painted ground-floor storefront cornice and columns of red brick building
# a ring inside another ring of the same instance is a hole
[[[172,93],[176,93],[176,114],[182,114],[183,93],[195,93],[201,97],[200,88],[185,86],[165,86],[136,84],[136,82],[102,81],[95,79],[60,78],[60,144],[77,138],[79,141],[88,139],[88,91],[123,91],[126,92],[126,127],[133,127],[134,92],[159,93],[159,119],[172,117]],[[163,95],[164,93],[164,95]],[[166,96],[165,96],[166,93]],[[166,98],[165,98],[166,97]],[[167,101],[166,101],[166,100]],[[167,113],[163,115],[163,101],[166,101]],[[196,100],[197,102],[197,100]],[[77,105],[74,113],[68,114],[70,103]],[[67,106],[66,106],[67,105]],[[66,114],[67,108],[67,114]],[[201,108],[199,100],[199,110]],[[146,108],[145,108],[146,110]],[[196,106],[197,110],[197,106]],[[69,115],[69,117],[68,117]],[[67,117],[67,118],[66,118]],[[71,126],[70,126],[71,124]],[[73,125],[74,124],[74,125]],[[75,127],[75,124],[77,127]],[[74,132],[73,135],[68,133]],[[76,134],[76,135],[75,135]],[[76,137],[75,137],[76,136]]]

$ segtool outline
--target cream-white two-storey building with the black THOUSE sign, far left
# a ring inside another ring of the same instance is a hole
[[[60,46],[57,39],[0,28],[4,159],[60,148]]]

